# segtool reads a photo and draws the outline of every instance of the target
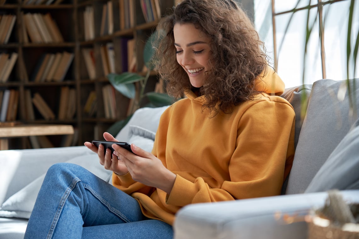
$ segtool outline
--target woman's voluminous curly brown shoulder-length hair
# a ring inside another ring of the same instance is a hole
[[[266,69],[268,57],[251,20],[232,0],[185,0],[157,26],[155,68],[167,81],[167,92],[178,98],[191,89],[187,73],[178,64],[174,24],[193,23],[210,38],[211,53],[205,85],[200,95],[204,107],[217,114],[254,100],[255,78]],[[213,70],[215,69],[215,70]]]

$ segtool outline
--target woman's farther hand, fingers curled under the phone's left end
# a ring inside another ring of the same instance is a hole
[[[115,137],[107,132],[103,133],[103,137],[107,141],[118,141],[115,139]],[[103,165],[105,169],[111,170],[118,175],[125,175],[127,172],[129,172],[125,164],[120,159],[118,159],[115,154],[111,155],[110,149],[106,150],[106,154],[104,153],[104,147],[102,144],[100,144],[98,148],[90,142],[85,142],[84,145],[92,152],[97,153],[100,164]]]

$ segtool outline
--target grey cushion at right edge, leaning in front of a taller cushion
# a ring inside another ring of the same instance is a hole
[[[319,169],[306,192],[359,189],[359,119]]]

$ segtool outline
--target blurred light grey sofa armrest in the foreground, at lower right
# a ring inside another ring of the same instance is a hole
[[[359,190],[341,193],[345,200],[359,202]],[[327,196],[317,192],[188,205],[177,213],[174,239],[303,239],[307,236],[303,216],[323,206]],[[276,219],[278,215],[298,221],[288,224]]]

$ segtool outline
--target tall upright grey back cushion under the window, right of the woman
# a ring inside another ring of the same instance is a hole
[[[359,86],[359,80],[350,80]],[[327,160],[335,147],[348,133],[356,117],[350,116],[348,91],[344,100],[337,97],[340,86],[345,81],[323,79],[313,83],[309,96],[307,113],[300,130],[294,155],[292,171],[289,175],[287,194],[303,193],[319,168]],[[356,109],[359,112],[359,88],[355,94]]]

